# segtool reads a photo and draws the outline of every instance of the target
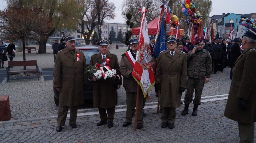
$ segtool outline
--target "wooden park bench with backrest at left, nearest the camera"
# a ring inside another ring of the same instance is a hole
[[[10,67],[13,66],[35,66],[35,69],[17,69],[17,70],[10,70]],[[8,66],[6,67],[6,77],[7,82],[9,82],[9,74],[11,73],[21,73],[21,72],[36,72],[37,79],[39,80],[39,68],[36,63],[36,60],[24,60],[24,61],[8,61]]]

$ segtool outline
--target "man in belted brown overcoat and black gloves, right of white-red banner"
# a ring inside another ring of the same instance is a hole
[[[176,50],[177,39],[166,36],[168,50],[159,54],[156,83],[161,89],[162,128],[174,128],[176,107],[181,106],[181,93],[185,91],[187,80],[187,57],[183,51]]]

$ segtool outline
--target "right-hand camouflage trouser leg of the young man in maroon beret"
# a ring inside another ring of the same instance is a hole
[[[204,87],[204,81],[205,79],[199,79],[196,78],[195,80],[195,98],[193,103],[194,104],[201,104],[201,96],[202,96],[202,91],[203,91],[203,87]]]

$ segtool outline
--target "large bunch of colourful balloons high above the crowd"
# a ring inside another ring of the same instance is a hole
[[[184,13],[185,16],[191,17],[190,19],[187,19],[187,24],[189,25],[190,22],[194,23],[194,25],[200,26],[201,22],[201,14],[199,11],[196,12],[195,2],[192,2],[192,0],[185,0],[185,3],[183,4],[183,8],[181,11]]]

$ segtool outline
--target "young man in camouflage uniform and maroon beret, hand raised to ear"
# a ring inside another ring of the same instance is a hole
[[[201,104],[204,83],[209,82],[212,72],[212,57],[203,49],[203,39],[195,41],[193,50],[187,53],[187,61],[191,61],[187,69],[187,92],[184,98],[185,108],[181,115],[187,115],[189,104],[192,103],[195,89],[194,108],[192,116],[197,116],[197,107]]]

